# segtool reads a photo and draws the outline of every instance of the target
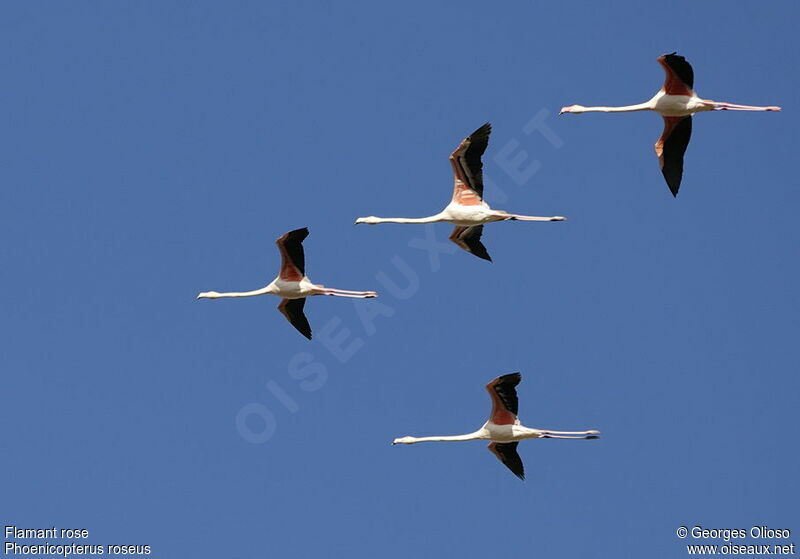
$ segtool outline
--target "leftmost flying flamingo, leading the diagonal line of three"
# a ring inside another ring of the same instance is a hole
[[[289,231],[277,241],[278,250],[281,253],[281,269],[278,277],[272,280],[266,287],[255,291],[217,293],[216,291],[205,291],[200,293],[198,299],[219,299],[221,297],[254,297],[267,293],[282,297],[283,300],[278,305],[278,310],[286,317],[298,332],[309,340],[311,339],[311,326],[303,313],[306,304],[306,297],[313,295],[332,295],[334,297],[352,297],[356,299],[366,299],[377,297],[374,291],[347,291],[345,289],[334,289],[324,285],[316,285],[306,276],[305,254],[303,252],[303,240],[308,237],[308,228],[295,229]]]

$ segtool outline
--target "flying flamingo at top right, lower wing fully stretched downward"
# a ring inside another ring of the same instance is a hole
[[[692,136],[692,115],[704,111],[780,111],[780,107],[756,107],[736,105],[721,101],[701,99],[694,89],[694,71],[682,56],[676,53],[662,54],[658,63],[667,74],[664,85],[658,93],[644,103],[625,107],[584,107],[570,105],[563,107],[564,113],[625,113],[633,111],[656,111],[664,117],[664,132],[655,143],[661,173],[667,181],[670,192],[678,196],[683,177],[683,154]]]

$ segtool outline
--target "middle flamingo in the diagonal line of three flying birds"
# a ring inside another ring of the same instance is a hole
[[[561,216],[536,217],[511,214],[493,210],[483,201],[483,162],[481,156],[489,145],[492,125],[488,122],[465,138],[450,154],[450,164],[455,175],[453,198],[444,210],[429,217],[359,217],[356,224],[367,223],[437,223],[447,221],[455,224],[450,240],[484,260],[492,261],[486,247],[481,243],[483,224],[493,221],[564,221]]]

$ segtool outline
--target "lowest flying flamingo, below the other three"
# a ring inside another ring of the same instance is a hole
[[[524,439],[596,439],[600,431],[550,431],[532,429],[519,422],[516,386],[522,380],[519,373],[497,377],[486,385],[492,399],[489,421],[474,433],[443,437],[400,437],[392,444],[416,444],[429,441],[492,441],[487,447],[515,476],[524,480],[525,469],[517,454],[517,445]]]

